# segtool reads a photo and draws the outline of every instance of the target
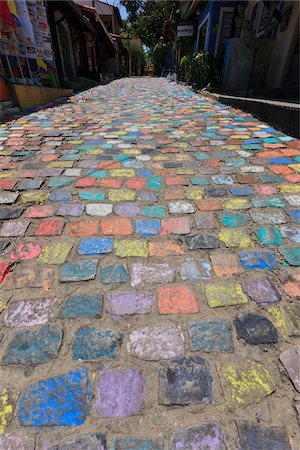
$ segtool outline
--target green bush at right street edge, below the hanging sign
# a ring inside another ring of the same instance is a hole
[[[184,79],[192,82],[199,89],[208,84],[216,86],[218,84],[218,74],[214,58],[206,52],[196,52],[181,58],[180,68],[183,71]]]

